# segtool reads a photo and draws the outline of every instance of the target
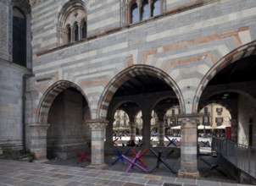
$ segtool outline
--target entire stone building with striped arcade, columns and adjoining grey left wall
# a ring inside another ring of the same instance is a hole
[[[69,158],[91,142],[92,167],[105,167],[117,109],[127,112],[131,131],[142,111],[146,146],[154,110],[163,145],[164,113],[179,105],[179,176],[198,178],[198,112],[212,102],[231,112],[232,139],[255,145],[254,0],[1,0],[0,5],[1,146],[23,145],[44,161]],[[25,67],[13,62],[14,7],[27,20],[31,45]]]

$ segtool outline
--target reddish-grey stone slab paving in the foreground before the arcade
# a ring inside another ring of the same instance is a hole
[[[73,160],[75,161],[75,159]],[[59,162],[59,161],[58,161]],[[53,163],[53,161],[52,161]],[[57,163],[57,161],[55,162]],[[86,162],[83,162],[86,163]],[[67,163],[69,165],[69,163]],[[209,181],[203,179],[176,178],[173,176],[160,176],[142,173],[135,170],[132,172],[121,172],[104,169],[92,169],[80,164],[75,166],[64,166],[48,163],[33,163],[25,161],[0,160],[0,186],[2,185],[64,185],[64,186],[236,186],[238,183],[227,183]],[[111,167],[111,166],[109,166]],[[225,180],[224,180],[225,181]],[[228,180],[230,181],[230,180]]]

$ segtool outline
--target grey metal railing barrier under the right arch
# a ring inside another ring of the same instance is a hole
[[[212,150],[220,153],[243,172],[256,178],[256,147],[237,144],[229,139],[213,138]]]

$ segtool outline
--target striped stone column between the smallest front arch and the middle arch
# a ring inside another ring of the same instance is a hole
[[[86,123],[92,129],[92,163],[90,168],[102,169],[108,167],[104,163],[104,137],[108,125],[106,120],[87,120]]]

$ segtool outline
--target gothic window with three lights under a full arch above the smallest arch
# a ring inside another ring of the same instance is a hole
[[[86,8],[81,0],[70,0],[58,14],[58,44],[64,45],[87,36]]]

